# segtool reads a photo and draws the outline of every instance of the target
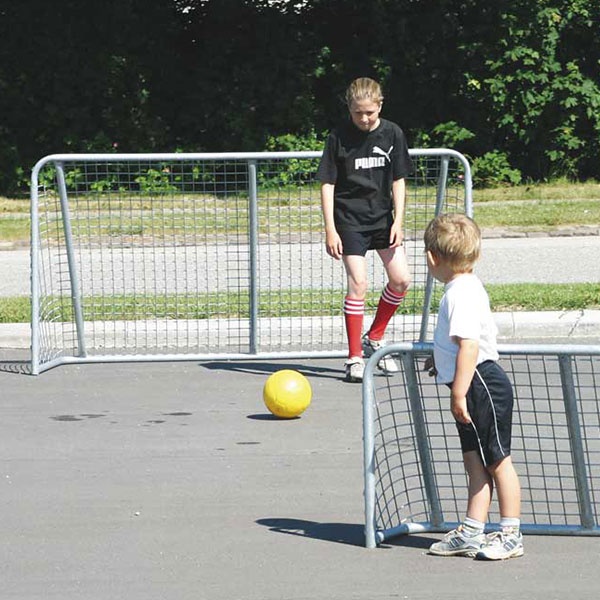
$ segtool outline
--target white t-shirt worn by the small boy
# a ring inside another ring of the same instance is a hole
[[[479,278],[464,273],[447,283],[433,335],[438,383],[454,381],[458,345],[452,340],[453,336],[477,340],[477,364],[481,364],[486,360],[498,360],[497,334],[490,301]]]

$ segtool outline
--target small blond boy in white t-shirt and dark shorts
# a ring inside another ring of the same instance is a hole
[[[462,214],[439,215],[424,235],[430,273],[445,284],[434,334],[437,382],[451,390],[469,479],[462,524],[434,543],[431,554],[502,560],[523,555],[521,488],[510,456],[512,386],[496,362],[496,325],[487,292],[473,274],[481,252],[479,227]],[[500,506],[500,531],[484,534],[492,493]]]

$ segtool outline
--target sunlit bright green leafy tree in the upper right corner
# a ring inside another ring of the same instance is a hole
[[[583,0],[509,4],[498,43],[467,79],[467,94],[484,106],[480,125],[493,132],[488,144],[506,149],[534,178],[597,175],[598,7]]]

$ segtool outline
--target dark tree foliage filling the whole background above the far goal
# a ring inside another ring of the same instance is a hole
[[[599,25],[596,0],[0,0],[0,193],[53,152],[314,144],[363,75],[413,146],[599,178]]]

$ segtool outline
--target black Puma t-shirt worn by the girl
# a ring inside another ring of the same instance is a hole
[[[321,183],[332,183],[338,231],[389,227],[393,220],[392,182],[410,174],[412,162],[404,133],[380,119],[363,132],[348,120],[327,138],[317,170]]]

